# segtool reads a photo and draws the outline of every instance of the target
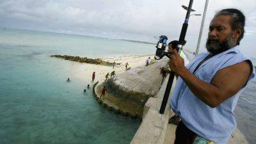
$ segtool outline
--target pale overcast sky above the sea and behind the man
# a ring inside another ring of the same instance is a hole
[[[157,42],[154,36],[179,39],[189,0],[0,0],[0,28],[31,29],[76,35]],[[204,12],[204,0],[193,9]],[[241,51],[256,57],[256,0],[209,0],[200,51],[212,17],[223,8],[237,8],[246,16]],[[186,34],[188,49],[195,50],[202,16],[191,16]]]

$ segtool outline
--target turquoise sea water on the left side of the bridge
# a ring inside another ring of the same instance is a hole
[[[140,120],[99,106],[92,89],[83,93],[90,81],[70,77],[74,62],[50,55],[99,58],[154,51],[149,44],[0,29],[0,143],[129,143]]]

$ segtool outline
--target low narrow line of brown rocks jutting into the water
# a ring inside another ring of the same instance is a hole
[[[56,54],[56,55],[52,55],[51,57],[56,57],[56,58],[61,58],[64,60],[68,60],[68,61],[76,61],[79,63],[90,63],[90,64],[95,64],[95,65],[106,65],[106,66],[112,66],[113,63],[109,62],[109,61],[103,61],[100,58],[96,58],[96,59],[92,59],[92,58],[81,58],[79,56],[61,56],[60,54]],[[120,65],[121,63],[116,63],[116,65]]]

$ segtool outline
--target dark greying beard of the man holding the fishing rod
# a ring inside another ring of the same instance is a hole
[[[208,36],[206,42],[206,49],[207,51],[211,52],[211,54],[219,54],[223,51],[227,51],[228,49],[230,49],[233,44],[234,38],[232,38],[231,36],[228,36],[228,38],[223,42],[220,42],[212,36]]]

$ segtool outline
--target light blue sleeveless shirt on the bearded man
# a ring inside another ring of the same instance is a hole
[[[196,56],[194,60],[187,65],[188,70],[192,73],[198,63],[204,60],[209,54],[209,52],[205,52]],[[252,67],[252,74],[248,79],[248,81],[250,81],[255,76],[252,61],[248,56],[244,56],[244,54],[239,51],[238,46],[216,54],[205,61],[196,70],[195,76],[202,81],[211,83],[212,78],[218,70],[245,60],[250,61]],[[179,77],[172,93],[171,108],[176,115],[180,116],[186,127],[199,136],[214,141],[217,144],[227,143],[230,135],[236,128],[234,109],[239,95],[244,91],[245,87],[246,86],[241,88],[239,92],[222,102],[216,108],[211,108],[202,100],[198,99],[189,90],[187,84]]]

